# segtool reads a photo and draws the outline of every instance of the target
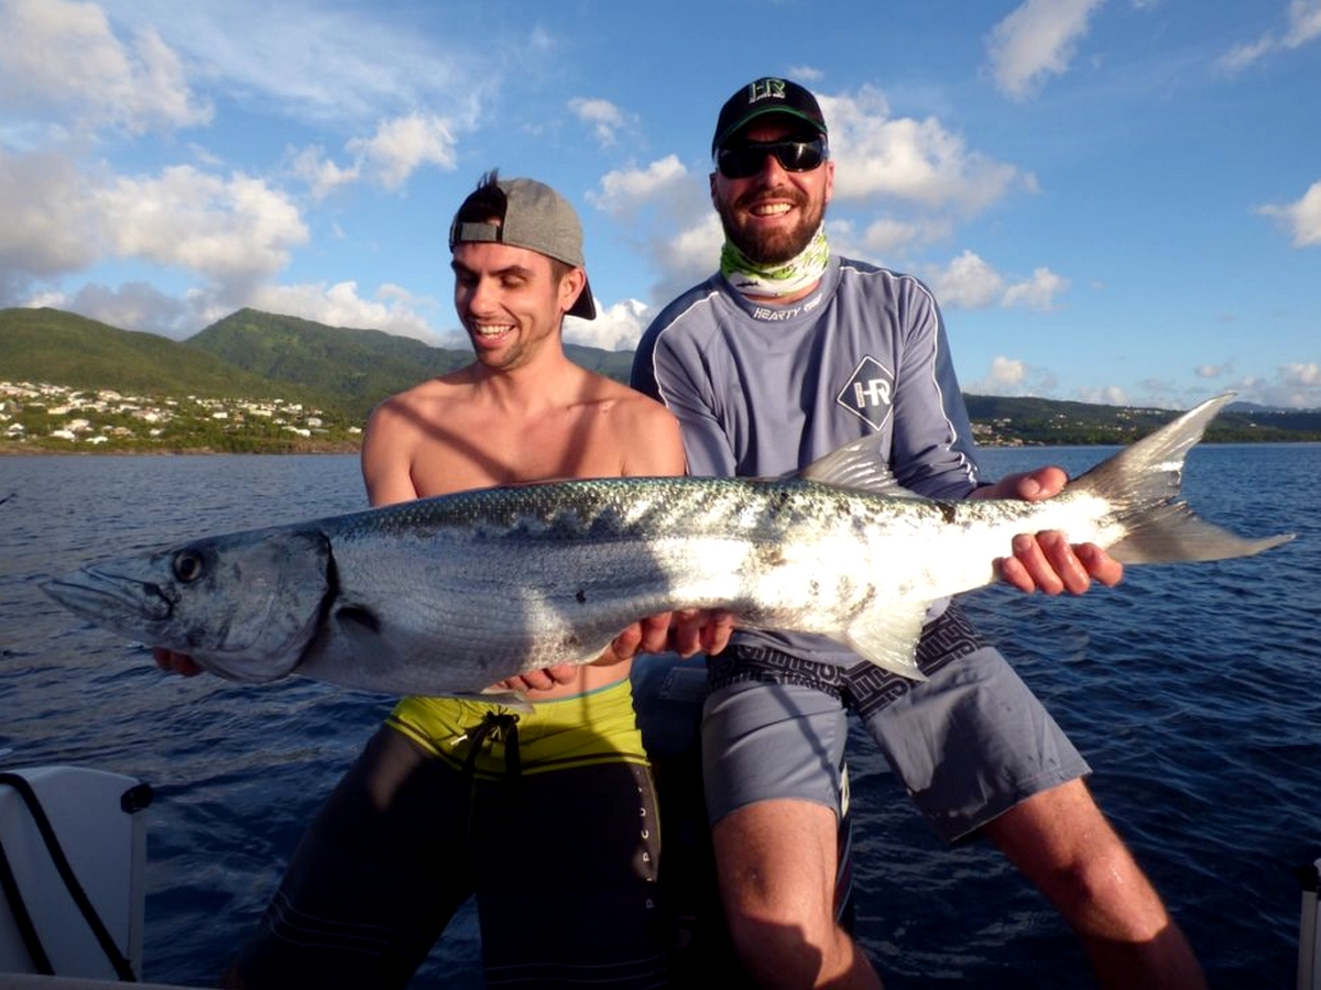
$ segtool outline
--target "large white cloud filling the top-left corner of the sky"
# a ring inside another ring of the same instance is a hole
[[[211,107],[184,78],[178,55],[152,28],[131,44],[95,4],[0,4],[0,107],[54,116],[73,129],[131,133],[205,124]]]

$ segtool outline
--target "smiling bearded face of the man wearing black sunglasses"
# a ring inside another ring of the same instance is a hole
[[[770,116],[749,124],[725,147],[752,141],[802,137],[790,119]],[[835,162],[827,160],[808,172],[789,172],[774,154],[746,178],[711,173],[711,202],[720,214],[725,236],[757,264],[783,264],[799,255],[826,216],[835,185]]]

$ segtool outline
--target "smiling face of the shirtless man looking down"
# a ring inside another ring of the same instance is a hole
[[[477,359],[491,368],[520,367],[560,330],[585,281],[546,255],[506,244],[454,246],[454,310]]]

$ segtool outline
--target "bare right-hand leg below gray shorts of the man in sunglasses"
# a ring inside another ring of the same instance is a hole
[[[1206,986],[1184,933],[1082,780],[1033,795],[984,832],[1073,925],[1102,986]]]

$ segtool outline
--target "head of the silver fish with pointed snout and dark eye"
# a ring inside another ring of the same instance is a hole
[[[123,636],[186,653],[235,681],[291,673],[332,590],[330,541],[314,527],[234,533],[90,565],[44,590]]]

